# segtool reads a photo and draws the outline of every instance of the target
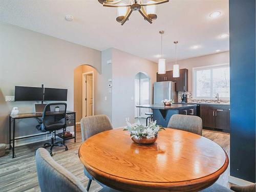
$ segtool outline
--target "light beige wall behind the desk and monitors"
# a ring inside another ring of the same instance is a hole
[[[84,37],[86,38],[86,37]],[[14,86],[68,89],[68,110],[73,110],[74,69],[88,64],[101,72],[101,52],[55,37],[0,23],[0,143],[8,143],[8,114],[33,112],[35,102],[5,102]],[[16,136],[38,133],[34,119],[18,120]]]

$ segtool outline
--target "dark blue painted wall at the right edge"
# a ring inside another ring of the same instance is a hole
[[[230,175],[255,182],[255,0],[229,0]]]

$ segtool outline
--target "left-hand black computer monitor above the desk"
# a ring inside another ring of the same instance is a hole
[[[15,101],[42,101],[44,88],[15,86]]]

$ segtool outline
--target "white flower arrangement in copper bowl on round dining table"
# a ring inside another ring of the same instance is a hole
[[[148,126],[127,122],[127,126],[123,129],[123,131],[128,131],[131,139],[138,144],[154,143],[157,140],[158,132],[161,130],[165,129],[157,125],[157,121],[151,122]]]

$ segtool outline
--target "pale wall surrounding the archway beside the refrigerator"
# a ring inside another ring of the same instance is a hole
[[[134,79],[139,72],[144,72],[151,78],[150,103],[152,103],[157,63],[112,49],[112,123],[114,127],[126,125],[127,117],[130,118],[130,122],[134,122]]]

